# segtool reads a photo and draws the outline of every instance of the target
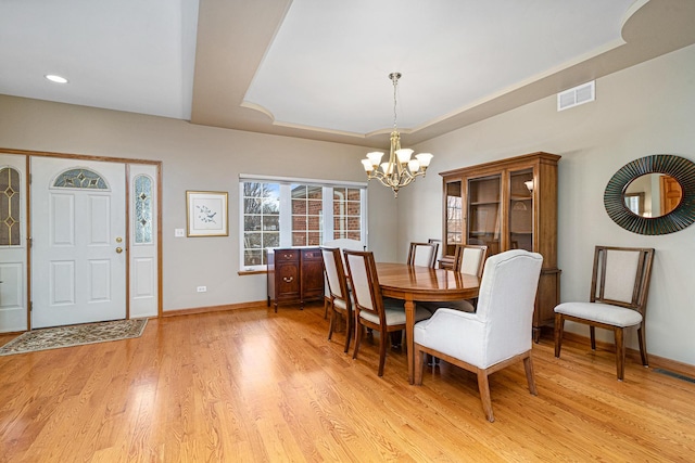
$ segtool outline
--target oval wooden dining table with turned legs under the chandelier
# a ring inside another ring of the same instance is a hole
[[[478,297],[480,278],[446,269],[377,262],[379,287],[383,297],[402,299],[405,307],[405,343],[408,362],[408,383],[414,383],[415,352],[413,333],[416,301],[473,299]]]

